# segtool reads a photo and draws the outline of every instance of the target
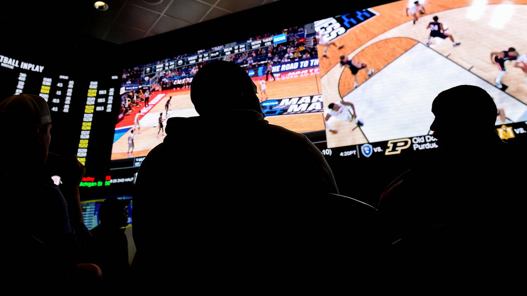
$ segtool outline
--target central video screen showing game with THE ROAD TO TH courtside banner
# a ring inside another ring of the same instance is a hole
[[[199,68],[214,59],[246,70],[270,124],[324,134],[313,23],[226,42],[231,43],[123,70],[112,160],[132,158],[130,166],[138,166],[141,157],[163,141],[168,118],[198,116],[190,84]]]

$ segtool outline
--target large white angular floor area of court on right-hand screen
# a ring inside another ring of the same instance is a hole
[[[347,131],[356,126],[347,123],[328,138],[328,147],[426,135],[434,120],[432,101],[438,93],[459,85],[460,81],[485,89],[498,108],[508,110],[506,117],[510,120],[527,120],[527,105],[520,100],[418,43],[343,98],[355,105],[364,124],[360,127],[363,141],[346,143]],[[452,106],[452,120],[469,132],[470,123],[464,121],[463,114],[456,113],[456,106]]]

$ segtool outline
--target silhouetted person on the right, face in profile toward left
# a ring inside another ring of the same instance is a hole
[[[511,208],[521,201],[508,182],[514,172],[504,158],[513,151],[497,135],[496,105],[484,89],[461,85],[437,95],[432,113],[438,148],[394,180],[379,202],[391,259],[424,274],[495,273],[510,263],[504,253],[514,248],[519,226]]]

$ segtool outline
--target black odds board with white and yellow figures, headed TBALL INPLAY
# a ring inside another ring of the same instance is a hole
[[[0,76],[0,101],[17,94],[38,95],[47,101],[52,120],[51,153],[76,155],[87,174],[108,169],[109,160],[106,167],[103,164],[110,155],[118,75],[112,75],[109,68],[93,74],[75,68],[74,63],[0,52]]]

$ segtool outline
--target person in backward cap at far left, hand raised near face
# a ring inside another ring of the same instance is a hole
[[[14,260],[45,252],[28,262],[31,266],[24,272],[33,275],[28,282],[71,282],[76,264],[91,260],[92,237],[83,223],[78,191],[84,167],[71,159],[67,173],[78,178],[62,188],[64,193],[47,175],[52,123],[42,97],[21,94],[1,100],[0,121],[2,140],[7,144],[1,147],[4,160],[0,164],[4,241],[19,256],[13,256]],[[35,250],[31,247],[35,244],[24,243],[27,238],[40,247]]]

